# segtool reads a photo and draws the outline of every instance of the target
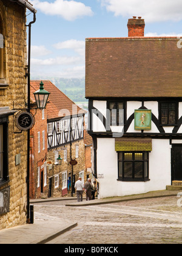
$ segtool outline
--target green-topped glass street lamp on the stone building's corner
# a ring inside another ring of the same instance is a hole
[[[44,90],[44,84],[41,81],[40,84],[40,88],[38,91],[36,91],[35,93],[33,93],[35,96],[35,101],[36,101],[36,105],[37,107],[42,110],[46,107],[47,104],[47,100],[49,98],[49,92]]]

